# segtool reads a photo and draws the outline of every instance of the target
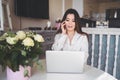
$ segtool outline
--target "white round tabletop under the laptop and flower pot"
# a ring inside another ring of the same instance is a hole
[[[45,66],[45,60],[41,62]],[[110,74],[88,65],[82,74],[46,73],[45,69],[45,67],[42,70],[33,68],[30,80],[117,80]],[[0,80],[6,80],[5,73],[0,73]]]

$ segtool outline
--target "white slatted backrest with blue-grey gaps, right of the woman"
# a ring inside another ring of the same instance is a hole
[[[120,30],[83,28],[89,34],[87,63],[120,79]]]

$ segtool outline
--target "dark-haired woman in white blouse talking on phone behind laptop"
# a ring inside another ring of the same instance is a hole
[[[52,50],[84,51],[88,57],[87,34],[82,32],[80,17],[75,9],[68,9],[62,19],[61,27],[57,31]]]

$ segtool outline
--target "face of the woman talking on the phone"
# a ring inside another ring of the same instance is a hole
[[[74,14],[68,14],[65,20],[67,31],[74,31],[75,29],[75,16]]]

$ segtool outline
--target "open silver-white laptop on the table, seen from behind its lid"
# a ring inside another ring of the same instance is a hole
[[[83,73],[85,54],[81,51],[46,51],[47,73]]]

